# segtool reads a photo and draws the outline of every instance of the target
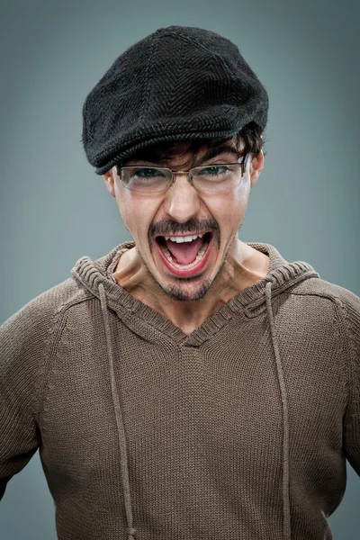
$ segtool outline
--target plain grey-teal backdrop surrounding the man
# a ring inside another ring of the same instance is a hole
[[[135,41],[170,24],[233,40],[270,95],[266,166],[240,237],[360,295],[359,3],[25,0],[0,14],[0,321],[128,239],[80,143],[85,95]],[[359,538],[359,479],[329,519]],[[54,540],[38,455],[0,504],[2,540]],[[99,539],[100,540],[100,539]]]

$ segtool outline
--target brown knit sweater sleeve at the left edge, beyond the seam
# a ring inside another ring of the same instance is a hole
[[[38,297],[0,327],[0,500],[7,482],[40,446],[37,414],[49,320],[46,302]]]

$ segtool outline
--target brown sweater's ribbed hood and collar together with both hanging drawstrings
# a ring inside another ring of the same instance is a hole
[[[301,282],[310,278],[320,278],[320,275],[308,263],[297,261],[287,262],[280,255],[278,250],[265,243],[247,242],[247,245],[254,247],[258,251],[265,253],[269,257],[269,267],[266,276],[246,289],[238,293],[227,304],[216,311],[208,320],[205,320],[199,329],[193,331],[190,336],[185,336],[181,329],[166,320],[157,312],[151,310],[147,305],[139,302],[129,293],[127,293],[112,277],[112,273],[117,266],[121,254],[134,247],[134,242],[125,242],[112,251],[95,261],[90,257],[81,257],[76,266],[72,269],[72,275],[76,282],[80,284],[87,293],[98,298],[101,302],[103,315],[103,331],[106,338],[107,358],[109,363],[109,374],[112,389],[112,404],[116,427],[119,437],[119,448],[121,455],[121,477],[122,489],[124,495],[125,512],[127,519],[127,540],[136,540],[136,524],[133,520],[131,504],[131,486],[129,480],[128,456],[126,445],[126,433],[121,412],[119,393],[116,388],[114,375],[114,354],[112,349],[112,331],[110,325],[109,311],[115,311],[119,316],[124,311],[136,315],[148,324],[156,326],[158,330],[165,332],[171,338],[174,338],[179,344],[199,347],[203,341],[211,338],[218,332],[234,314],[245,312],[247,317],[257,317],[263,311],[266,311],[268,321],[268,332],[271,336],[271,342],[274,350],[274,362],[276,365],[277,378],[282,399],[282,414],[284,425],[283,438],[283,506],[284,521],[283,530],[284,540],[291,540],[290,525],[290,486],[289,486],[289,421],[288,421],[288,402],[287,392],[284,383],[284,372],[279,353],[278,342],[276,338],[276,329],[274,314],[272,309],[272,300],[284,291],[290,289]]]

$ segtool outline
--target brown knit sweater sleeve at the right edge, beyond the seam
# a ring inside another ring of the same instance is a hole
[[[347,409],[343,451],[360,476],[360,298],[343,290],[342,309],[347,329]]]

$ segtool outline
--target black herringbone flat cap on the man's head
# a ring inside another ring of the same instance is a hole
[[[266,89],[238,47],[195,27],[160,28],[117,58],[87,95],[83,144],[103,175],[141,148],[225,139],[254,121],[264,130]]]

